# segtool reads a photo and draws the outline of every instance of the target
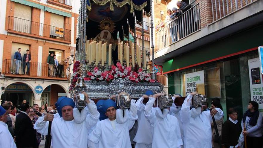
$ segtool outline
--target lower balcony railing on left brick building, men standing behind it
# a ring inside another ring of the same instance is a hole
[[[68,66],[53,67],[53,74],[50,75],[50,68],[47,63],[30,62],[28,74],[25,62],[19,64],[13,59],[5,59],[3,63],[3,73],[5,77],[20,77],[20,78],[37,78],[37,79],[52,79],[52,80],[67,80],[69,73]],[[68,75],[67,75],[68,74]],[[51,77],[53,76],[53,77]]]

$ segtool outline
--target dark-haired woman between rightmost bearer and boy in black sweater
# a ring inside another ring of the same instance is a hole
[[[212,100],[211,108],[212,109],[220,108],[221,110],[223,110],[219,98],[214,98]],[[217,129],[218,129],[218,133],[219,133],[220,136],[221,136],[221,132],[222,132],[223,120],[224,119],[223,119],[223,116],[222,116],[222,118],[220,120],[215,121]],[[219,148],[220,146],[218,144],[218,140],[215,140],[216,132],[215,132],[215,127],[214,127],[214,123],[213,122],[211,123],[211,126],[212,126],[212,147],[213,148]]]

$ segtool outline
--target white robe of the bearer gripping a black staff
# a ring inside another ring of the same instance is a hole
[[[76,123],[74,120],[65,121],[63,118],[54,118],[51,126],[51,136],[53,148],[60,147],[87,147],[87,132],[97,123],[100,113],[97,106],[92,102],[88,103],[85,112],[90,111],[91,114],[86,116],[85,122]],[[48,121],[43,121],[44,117],[39,117],[34,125],[34,129],[42,135],[48,134]]]

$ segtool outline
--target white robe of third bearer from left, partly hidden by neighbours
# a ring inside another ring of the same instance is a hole
[[[140,97],[135,103],[138,115],[138,129],[133,139],[136,142],[135,148],[152,147],[152,127],[149,121],[144,116],[145,105],[143,97]]]

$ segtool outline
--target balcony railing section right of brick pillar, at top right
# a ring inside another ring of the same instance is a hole
[[[257,0],[211,0],[213,22]]]

